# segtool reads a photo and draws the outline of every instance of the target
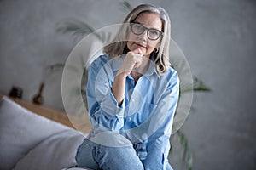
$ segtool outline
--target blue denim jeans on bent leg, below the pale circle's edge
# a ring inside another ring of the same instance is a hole
[[[132,146],[109,147],[84,139],[76,155],[79,167],[94,170],[143,170],[143,163]]]

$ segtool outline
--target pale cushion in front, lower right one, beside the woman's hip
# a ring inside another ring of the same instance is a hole
[[[84,135],[73,129],[55,134],[29,151],[18,161],[14,170],[61,170],[75,166],[75,154],[83,140]]]

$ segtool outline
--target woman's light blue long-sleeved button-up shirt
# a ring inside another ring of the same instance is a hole
[[[141,161],[154,165],[155,169],[165,169],[179,95],[177,71],[170,67],[160,76],[153,59],[137,83],[131,75],[126,77],[125,99],[119,106],[111,87],[124,59],[125,55],[114,59],[101,55],[90,65],[87,103],[91,133],[122,134],[131,141]]]

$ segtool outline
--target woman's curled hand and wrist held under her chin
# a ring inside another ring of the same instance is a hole
[[[129,51],[125,55],[125,60],[123,64],[120,66],[117,75],[124,75],[125,77],[131,74],[133,69],[138,68],[143,62],[143,53],[140,48]]]

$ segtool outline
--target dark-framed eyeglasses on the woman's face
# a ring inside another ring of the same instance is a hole
[[[150,40],[157,40],[159,37],[163,35],[163,32],[157,29],[147,28],[139,23],[131,23],[131,31],[135,35],[141,35],[145,30],[147,30],[147,36],[148,39]]]

